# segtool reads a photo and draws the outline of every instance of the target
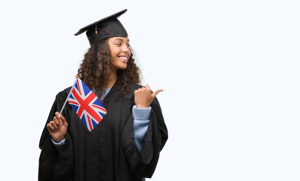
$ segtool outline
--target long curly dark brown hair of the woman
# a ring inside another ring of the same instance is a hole
[[[131,47],[130,57],[127,61],[127,67],[123,70],[117,70],[117,80],[118,81],[118,97],[122,97],[125,94],[130,93],[129,83],[134,82],[139,84],[141,82],[141,71],[139,67],[135,64],[133,58],[134,52]],[[94,46],[91,45],[87,52],[84,54],[84,59],[79,66],[77,76],[90,88],[95,89],[97,95],[102,95],[105,86],[108,85],[109,80],[109,70],[111,63],[111,56],[109,51],[108,39],[103,39],[98,43],[98,60],[96,65],[95,75],[91,75],[92,61],[93,61],[93,51]]]

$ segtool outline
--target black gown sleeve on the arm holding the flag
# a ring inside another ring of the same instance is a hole
[[[73,150],[72,141],[67,130],[65,136],[65,143],[61,153],[58,152],[56,147],[51,142],[51,136],[46,128],[46,125],[53,120],[55,112],[60,112],[65,98],[66,92],[62,91],[56,95],[55,101],[50,110],[45,127],[42,131],[39,148],[41,149],[38,161],[38,181],[70,181],[73,175]],[[67,105],[61,112],[68,122],[68,108]],[[69,124],[69,123],[68,123]]]

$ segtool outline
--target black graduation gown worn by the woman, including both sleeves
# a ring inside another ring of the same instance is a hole
[[[100,123],[89,132],[72,107],[66,103],[62,111],[68,123],[61,153],[50,140],[44,127],[39,148],[39,181],[142,181],[151,178],[159,152],[168,138],[162,112],[155,98],[151,103],[150,122],[145,136],[142,158],[138,156],[133,130],[132,107],[134,90],[141,85],[130,83],[130,94],[119,100],[118,83],[114,83],[105,97],[107,110]],[[47,123],[59,112],[71,87],[56,95]]]

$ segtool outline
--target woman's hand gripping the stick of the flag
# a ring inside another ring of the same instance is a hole
[[[47,124],[47,129],[54,142],[59,143],[65,138],[68,124],[61,114],[55,112],[55,115],[53,120]]]

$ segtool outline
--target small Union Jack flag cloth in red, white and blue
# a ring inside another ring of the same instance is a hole
[[[76,79],[67,102],[89,131],[92,131],[107,113],[100,100],[79,78]]]

